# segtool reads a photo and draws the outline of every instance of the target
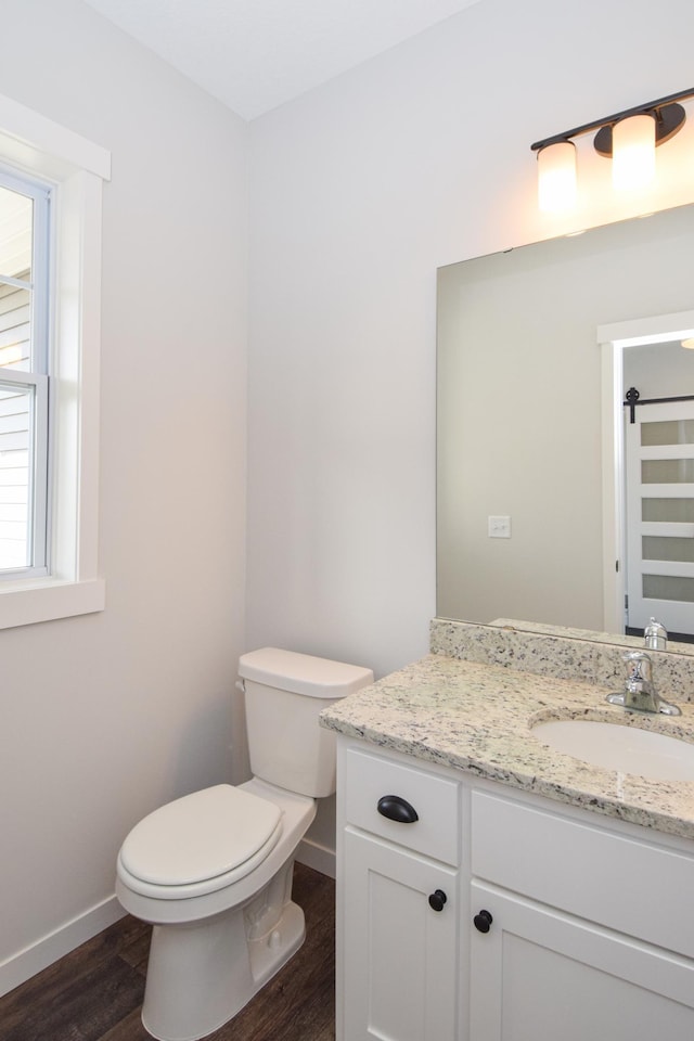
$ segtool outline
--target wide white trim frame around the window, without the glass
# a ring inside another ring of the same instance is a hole
[[[99,575],[102,187],[111,154],[0,95],[0,163],[54,189],[50,574],[0,582],[0,629],[103,611]]]

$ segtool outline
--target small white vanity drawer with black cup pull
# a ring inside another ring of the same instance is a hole
[[[460,863],[460,786],[455,781],[354,748],[347,750],[345,772],[349,824],[446,864]],[[384,796],[409,802],[416,821],[403,823],[380,813],[378,801]]]

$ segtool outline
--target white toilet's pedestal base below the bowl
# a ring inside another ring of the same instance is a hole
[[[287,866],[291,885],[293,864]],[[142,1024],[153,1038],[198,1041],[232,1019],[300,948],[304,912],[287,900],[267,933],[249,938],[249,931],[243,908],[203,922],[154,926],[142,1006]]]

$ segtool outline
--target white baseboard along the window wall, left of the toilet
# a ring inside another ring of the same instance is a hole
[[[76,947],[97,936],[121,918],[126,912],[115,896],[108,897],[94,908],[73,918],[66,925],[42,939],[25,947],[4,962],[0,963],[0,997],[14,990],[20,984],[36,976],[41,969],[56,962],[59,958],[74,951]]]

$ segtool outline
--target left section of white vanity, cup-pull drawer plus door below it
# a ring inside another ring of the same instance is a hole
[[[354,747],[339,772],[338,1037],[457,1041],[460,785]]]

